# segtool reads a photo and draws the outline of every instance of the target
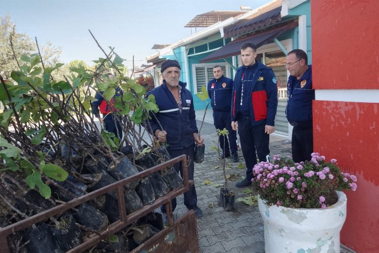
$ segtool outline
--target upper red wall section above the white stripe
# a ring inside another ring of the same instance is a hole
[[[312,0],[311,9],[314,89],[379,89],[379,1]]]

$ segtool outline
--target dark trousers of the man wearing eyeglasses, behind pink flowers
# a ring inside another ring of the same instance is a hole
[[[313,153],[313,128],[294,127],[292,131],[292,157],[295,162],[309,161]]]

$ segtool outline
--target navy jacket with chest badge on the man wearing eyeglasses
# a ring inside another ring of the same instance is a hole
[[[290,76],[287,84],[286,117],[293,126],[312,127],[312,100],[315,99],[312,89],[312,65],[300,77]]]

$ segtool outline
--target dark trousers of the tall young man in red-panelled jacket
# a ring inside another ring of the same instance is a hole
[[[240,135],[242,154],[246,162],[246,177],[253,178],[253,167],[259,161],[269,159],[270,150],[268,144],[270,135],[264,132],[265,124],[252,125],[250,117],[239,116],[238,134]],[[255,152],[257,150],[257,153]]]

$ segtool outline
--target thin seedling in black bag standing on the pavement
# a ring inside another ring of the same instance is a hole
[[[224,150],[225,150],[225,136],[229,134],[225,128],[223,130],[217,129],[218,138],[224,138]],[[220,189],[219,205],[224,207],[228,212],[232,212],[235,209],[234,192],[231,192],[227,185],[226,171],[225,171],[225,159],[221,159],[222,172],[224,174],[225,184]]]

